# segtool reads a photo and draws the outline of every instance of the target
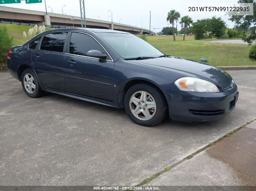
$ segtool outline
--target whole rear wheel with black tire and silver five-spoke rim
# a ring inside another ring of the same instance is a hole
[[[25,69],[21,76],[22,88],[29,97],[40,97],[42,89],[32,69]]]

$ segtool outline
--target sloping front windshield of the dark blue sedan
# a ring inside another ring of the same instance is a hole
[[[124,58],[158,57],[164,55],[151,44],[132,34],[98,33]]]

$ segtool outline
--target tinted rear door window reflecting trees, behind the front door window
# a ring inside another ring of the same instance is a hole
[[[62,53],[67,37],[66,32],[46,34],[41,43],[41,50]]]

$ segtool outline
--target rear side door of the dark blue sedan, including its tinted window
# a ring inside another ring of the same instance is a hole
[[[68,32],[46,34],[39,49],[32,52],[32,62],[43,86],[66,91],[64,78],[65,44]]]

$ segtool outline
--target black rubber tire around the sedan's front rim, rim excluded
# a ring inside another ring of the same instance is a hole
[[[151,94],[152,97],[155,99],[156,111],[155,111],[155,115],[151,119],[148,119],[148,120],[138,119],[131,112],[130,105],[129,105],[130,98],[137,91],[146,91],[149,94]],[[163,93],[154,85],[147,84],[147,83],[135,84],[131,88],[128,89],[128,91],[125,94],[124,107],[125,107],[125,112],[127,113],[128,117],[134,123],[137,123],[138,125],[142,125],[142,126],[148,126],[148,127],[154,126],[154,125],[157,125],[158,123],[160,123],[165,118],[167,111],[168,111],[167,103],[166,103]]]

